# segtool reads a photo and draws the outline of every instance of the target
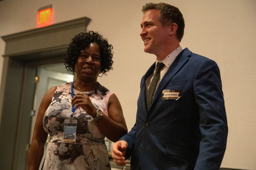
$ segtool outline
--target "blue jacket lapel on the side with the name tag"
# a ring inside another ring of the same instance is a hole
[[[154,95],[154,98],[152,99],[152,105],[157,100],[157,98],[159,98],[159,95],[161,95],[161,93],[162,93],[164,87],[167,85],[167,83],[173,78],[173,76],[186,63],[186,61],[189,59],[190,55],[191,55],[191,51],[189,51],[188,48],[185,48],[184,50],[182,50],[181,53],[179,53],[179,55],[176,57],[176,59],[170,65],[166,74],[163,76],[162,80],[160,81],[160,83],[157,87],[157,91]]]

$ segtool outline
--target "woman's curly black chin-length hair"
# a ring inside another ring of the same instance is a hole
[[[105,74],[109,70],[113,70],[113,46],[108,43],[108,40],[103,38],[98,32],[87,30],[86,33],[81,32],[76,35],[69,47],[67,48],[67,54],[64,59],[66,69],[73,74],[75,71],[75,65],[80,55],[81,50],[85,49],[90,43],[96,43],[99,46],[101,70],[100,73]]]

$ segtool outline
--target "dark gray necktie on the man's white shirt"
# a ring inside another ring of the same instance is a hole
[[[149,110],[152,102],[153,93],[155,91],[155,88],[157,86],[158,79],[160,77],[160,70],[163,68],[164,63],[157,63],[156,72],[154,74],[154,77],[150,83],[150,86],[147,90],[147,110]]]

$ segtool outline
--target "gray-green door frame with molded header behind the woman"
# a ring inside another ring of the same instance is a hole
[[[37,67],[63,62],[71,39],[89,22],[83,17],[1,37],[6,42],[0,89],[3,169],[26,169]]]

